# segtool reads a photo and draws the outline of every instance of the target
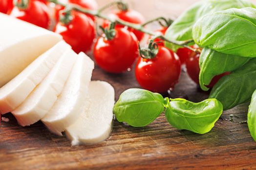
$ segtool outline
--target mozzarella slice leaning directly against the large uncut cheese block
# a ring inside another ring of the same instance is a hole
[[[0,113],[5,114],[17,108],[70,48],[60,41],[0,88]]]

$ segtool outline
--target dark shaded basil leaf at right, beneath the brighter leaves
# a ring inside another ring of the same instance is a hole
[[[213,86],[209,98],[216,98],[228,110],[236,105],[250,101],[256,89],[256,58],[251,59],[241,68],[222,77]]]

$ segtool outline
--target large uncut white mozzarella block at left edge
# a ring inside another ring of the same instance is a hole
[[[5,85],[38,56],[57,42],[61,35],[0,13],[0,87]]]

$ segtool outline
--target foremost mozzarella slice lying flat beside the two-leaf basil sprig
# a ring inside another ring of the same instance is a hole
[[[92,81],[85,110],[65,130],[71,144],[94,144],[107,139],[112,131],[113,107],[114,88],[106,82]]]

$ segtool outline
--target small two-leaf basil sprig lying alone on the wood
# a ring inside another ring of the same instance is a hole
[[[178,128],[198,134],[209,132],[222,114],[222,104],[216,99],[193,103],[185,99],[163,98],[143,89],[128,89],[121,94],[113,112],[119,122],[143,127],[155,120],[166,108],[168,122]]]

